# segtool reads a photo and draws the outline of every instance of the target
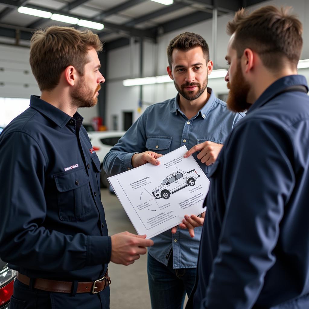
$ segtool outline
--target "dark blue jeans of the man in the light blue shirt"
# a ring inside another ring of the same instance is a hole
[[[190,295],[196,268],[173,269],[171,254],[167,266],[148,254],[147,273],[152,309],[182,309],[186,293]]]

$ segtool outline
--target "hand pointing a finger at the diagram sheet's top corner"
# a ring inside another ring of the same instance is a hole
[[[197,159],[201,160],[201,163],[206,165],[211,165],[214,163],[223,147],[223,144],[217,144],[214,142],[206,141],[201,144],[193,146],[184,154],[184,158],[192,155],[194,152],[200,151],[197,155]]]

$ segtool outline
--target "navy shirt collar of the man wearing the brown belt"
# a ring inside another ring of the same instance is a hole
[[[72,118],[70,115],[62,112],[59,108],[40,99],[40,96],[38,95],[30,96],[30,107],[36,109],[38,112],[48,117],[60,128],[63,128],[71,119],[74,119],[74,122],[76,119],[84,119],[78,112],[76,112]]]

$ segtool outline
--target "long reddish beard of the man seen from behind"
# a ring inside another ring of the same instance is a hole
[[[245,81],[240,60],[237,60],[233,82],[228,82],[227,88],[230,89],[230,91],[227,96],[226,104],[232,112],[244,112],[251,106],[251,104],[247,102],[250,85]]]

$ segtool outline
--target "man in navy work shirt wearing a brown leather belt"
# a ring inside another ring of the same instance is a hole
[[[153,244],[108,236],[100,162],[77,112],[97,103],[101,50],[91,31],[32,36],[41,96],[0,137],[0,257],[17,270],[11,309],[109,308],[107,264],[132,264]]]

